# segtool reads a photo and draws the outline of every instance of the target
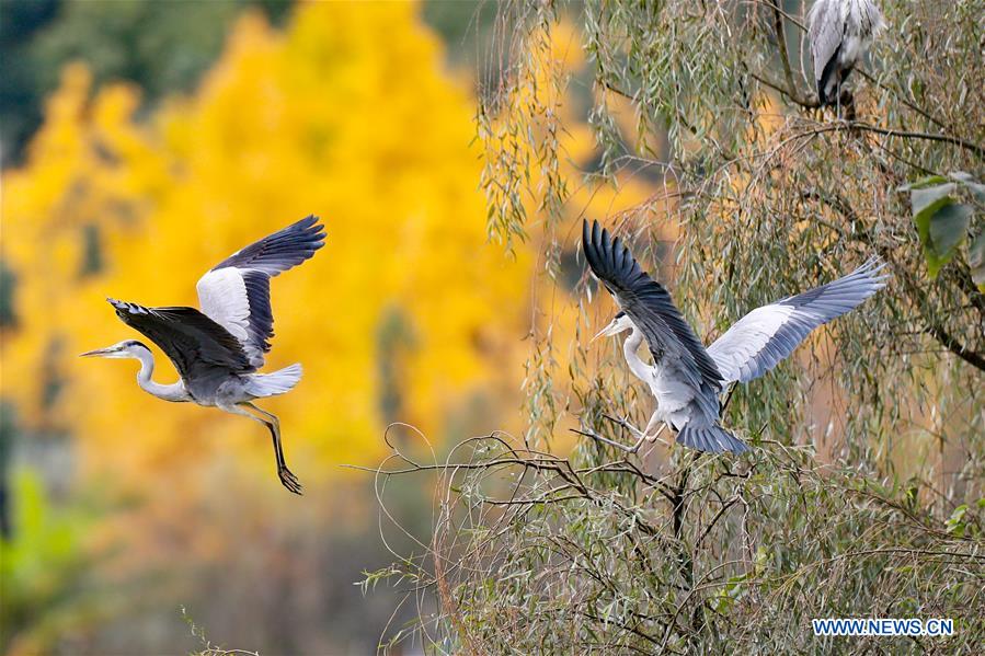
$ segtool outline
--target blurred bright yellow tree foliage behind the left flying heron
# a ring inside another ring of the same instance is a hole
[[[265,449],[254,426],[144,395],[130,365],[72,356],[134,336],[104,296],[194,304],[213,263],[310,212],[328,246],[273,290],[271,366],[306,367],[270,402],[288,454],[375,460],[383,383],[397,388],[390,411],[432,431],[517,361],[506,335],[522,333],[528,267],[485,244],[472,104],[412,19],[400,4],[312,4],[280,35],[248,15],[199,93],[147,127],[136,90],[90,100],[85,70],[67,70],[3,195],[3,256],[20,280],[4,365],[28,422],[72,429],[87,467],[117,475],[226,450],[224,434]],[[380,380],[381,352],[399,383]]]

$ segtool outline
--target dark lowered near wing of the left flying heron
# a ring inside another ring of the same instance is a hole
[[[242,344],[195,308],[145,308],[112,298],[106,300],[116,308],[124,323],[161,347],[186,383],[215,373],[255,370]]]

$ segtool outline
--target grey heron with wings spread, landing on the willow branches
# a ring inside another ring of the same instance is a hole
[[[667,425],[677,431],[679,444],[699,451],[747,450],[721,426],[719,398],[725,385],[759,378],[811,331],[875,294],[886,278],[880,273],[883,265],[869,260],[834,283],[753,310],[706,348],[667,290],[640,267],[618,237],[610,239],[597,221],[591,228],[585,221],[582,244],[588,267],[620,309],[595,338],[630,331],[622,345],[626,361],[656,399],[646,427],[632,429],[639,438],[633,447],[604,440],[629,452],[655,440]],[[653,364],[637,353],[644,339]]]

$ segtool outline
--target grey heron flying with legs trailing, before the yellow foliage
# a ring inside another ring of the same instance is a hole
[[[82,355],[140,360],[137,384],[158,399],[216,406],[263,424],[274,440],[280,482],[301,494],[301,484],[284,461],[279,421],[253,401],[288,392],[301,379],[300,365],[271,373],[256,371],[274,336],[271,278],[314,255],[324,239],[318,218],[309,216],[237,251],[198,280],[201,312],[106,299],[124,323],[161,347],[177,369],[177,382],[161,384],[151,379],[153,355],[136,339]]]

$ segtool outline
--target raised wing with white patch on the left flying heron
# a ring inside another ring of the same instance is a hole
[[[198,280],[202,311],[242,343],[256,368],[274,336],[271,278],[314,255],[324,245],[322,230],[318,217],[306,217],[237,251]]]

